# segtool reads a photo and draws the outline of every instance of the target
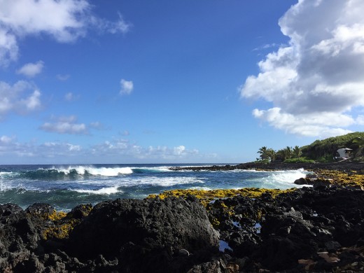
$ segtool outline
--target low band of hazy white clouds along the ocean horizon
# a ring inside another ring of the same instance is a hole
[[[64,123],[74,123],[74,117],[58,118]],[[204,155],[197,149],[185,146],[148,146],[142,147],[127,139],[111,139],[93,146],[81,146],[64,141],[19,142],[16,137],[0,137],[0,164],[6,162],[22,164],[32,158],[39,164],[62,164],[69,162],[208,162],[216,159],[216,154]],[[1,162],[3,159],[3,162]],[[6,160],[6,161],[4,161]]]

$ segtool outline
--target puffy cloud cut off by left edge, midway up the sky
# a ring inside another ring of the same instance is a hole
[[[0,120],[8,113],[27,114],[41,108],[41,92],[36,86],[20,80],[14,85],[0,81]]]

